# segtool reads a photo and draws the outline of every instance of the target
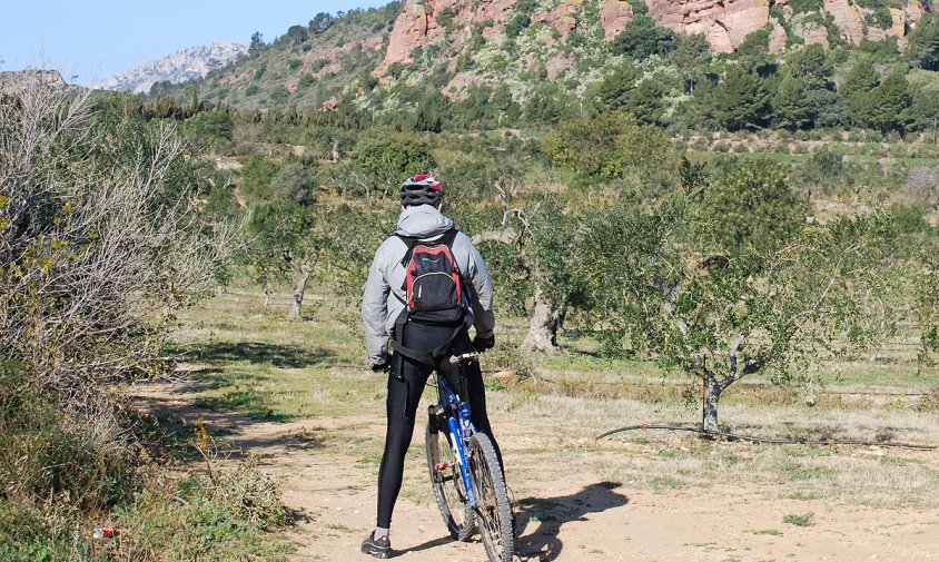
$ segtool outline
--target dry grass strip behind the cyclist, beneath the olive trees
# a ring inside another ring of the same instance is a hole
[[[330,431],[314,432],[317,446],[355,459],[352,470],[370,477],[382,453],[384,383],[360,366],[364,348],[355,315],[318,306],[306,322],[288,323],[283,319],[287,307],[287,295],[277,295],[265,309],[259,293],[231,289],[182,318],[180,346],[194,349],[192,359],[210,367],[210,374],[200,375],[215,384],[206,397],[251,393],[256,398],[247,401],[247,412],[253,415],[329,421]],[[510,321],[502,329],[503,341],[520,342],[524,324]],[[235,345],[245,343],[261,345]],[[939,386],[939,377],[935,372],[909,375],[903,347],[884,349],[874,362],[842,365],[840,386],[816,390],[813,407],[802,390],[754,378],[728,395],[721,421],[735,432],[761,436],[939,444],[935,413],[902,397],[908,391],[928,393]],[[505,366],[506,357],[511,354],[503,349],[498,361],[491,356],[484,367]],[[645,362],[577,353],[533,367],[535,377],[500,381],[488,393],[516,495],[525,495],[536,482],[580,472],[661,494],[706,494],[733,483],[768,499],[939,506],[937,452],[706,442],[664,431],[595,441],[595,435],[625,425],[698,423],[696,386],[663,376]],[[226,403],[219,400],[217,405]],[[240,407],[235,401],[227,405]],[[402,495],[432,503],[423,477],[422,422],[418,415]]]

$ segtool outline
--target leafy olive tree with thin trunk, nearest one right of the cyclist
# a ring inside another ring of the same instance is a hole
[[[616,345],[702,381],[705,431],[744,376],[810,379],[892,333],[907,264],[888,215],[802,223],[767,160],[690,191],[655,206],[624,196],[597,215],[581,263]]]

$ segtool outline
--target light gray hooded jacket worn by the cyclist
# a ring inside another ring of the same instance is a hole
[[[398,217],[397,234],[433,241],[453,228],[453,220],[429,205],[406,207]],[[495,329],[493,313],[493,283],[483,257],[463,233],[453,241],[453,257],[463,276],[472,309],[466,315],[466,327],[476,327],[476,335],[488,337]],[[405,307],[403,288],[405,266],[401,260],[407,244],[397,236],[388,237],[375,253],[365,294],[362,297],[362,319],[365,323],[365,345],[373,365],[382,362],[382,347],[388,343],[395,321]]]

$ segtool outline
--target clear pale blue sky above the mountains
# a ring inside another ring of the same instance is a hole
[[[318,12],[389,1],[4,0],[0,70],[55,68],[67,81],[87,86],[195,45],[247,43],[255,31],[270,41]]]

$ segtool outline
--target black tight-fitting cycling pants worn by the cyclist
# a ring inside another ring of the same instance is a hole
[[[453,328],[449,327],[407,323],[404,327],[403,344],[412,349],[433,349],[444,345],[452,335]],[[470,335],[464,329],[456,336],[453,353],[471,351],[473,351],[473,345],[470,342]],[[438,361],[436,367],[447,377],[447,381],[458,379],[457,367],[448,362],[448,357]],[[434,369],[407,357],[395,356],[392,361],[392,371],[393,374],[388,376],[388,431],[385,436],[385,454],[382,456],[382,466],[378,470],[378,526],[385,529],[392,526],[392,511],[395,509],[395,501],[401,491],[404,455],[407,453],[414,434],[417,405],[421,402],[424,385],[427,384],[427,377]],[[486,393],[480,365],[477,363],[467,365],[464,371],[473,425],[476,426],[476,431],[492,440],[498,463],[502,465],[502,453],[493,437],[490,418],[486,415]],[[403,373],[404,381],[394,376],[396,372]],[[426,415],[423,418],[426,418]]]

